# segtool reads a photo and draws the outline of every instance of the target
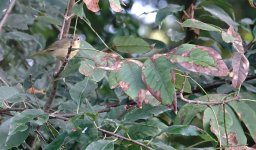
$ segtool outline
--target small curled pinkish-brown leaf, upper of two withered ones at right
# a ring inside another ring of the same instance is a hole
[[[227,30],[227,34],[233,37],[233,40],[231,41],[233,47],[237,50],[239,53],[244,53],[244,47],[243,47],[243,41],[241,36],[234,30],[232,26],[230,26]]]

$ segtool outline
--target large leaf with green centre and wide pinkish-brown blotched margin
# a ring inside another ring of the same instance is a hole
[[[211,76],[227,76],[229,70],[219,53],[213,48],[193,44],[183,44],[170,53],[173,63],[185,69]]]

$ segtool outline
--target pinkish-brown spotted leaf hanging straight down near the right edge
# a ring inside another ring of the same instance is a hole
[[[249,71],[249,61],[244,54],[236,52],[232,59],[232,67],[232,86],[234,88],[240,88],[241,84],[247,77]]]

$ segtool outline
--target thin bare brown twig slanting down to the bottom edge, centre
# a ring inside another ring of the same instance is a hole
[[[153,148],[151,148],[151,147],[149,147],[149,146],[147,146],[147,145],[145,145],[145,144],[143,144],[143,143],[140,143],[140,142],[135,141],[135,140],[132,140],[132,139],[128,139],[128,138],[126,138],[126,137],[124,137],[124,136],[122,136],[122,135],[119,135],[119,134],[116,134],[116,133],[113,133],[113,132],[110,132],[110,131],[107,131],[107,130],[104,130],[104,129],[101,129],[101,128],[98,128],[98,130],[99,130],[100,132],[102,132],[102,133],[105,133],[105,134],[108,134],[108,135],[117,137],[117,138],[122,139],[122,140],[126,140],[126,141],[128,141],[128,142],[131,142],[131,143],[133,143],[133,144],[139,145],[139,146],[141,146],[141,147],[144,147],[145,149],[153,150]]]

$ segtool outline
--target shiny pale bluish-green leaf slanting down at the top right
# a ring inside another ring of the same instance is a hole
[[[237,23],[220,7],[216,5],[203,6],[205,11],[208,11],[211,15],[227,23],[230,26],[237,26]]]

